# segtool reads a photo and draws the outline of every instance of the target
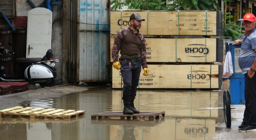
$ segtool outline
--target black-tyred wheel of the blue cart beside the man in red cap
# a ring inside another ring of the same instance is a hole
[[[226,127],[231,127],[231,108],[230,108],[231,100],[230,94],[228,90],[224,90],[223,92],[223,111],[225,117]]]

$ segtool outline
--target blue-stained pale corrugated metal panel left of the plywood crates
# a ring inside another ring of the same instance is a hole
[[[110,0],[80,0],[78,4],[77,81],[109,81]]]

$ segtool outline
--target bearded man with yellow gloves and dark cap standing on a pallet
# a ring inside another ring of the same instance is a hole
[[[140,113],[134,107],[134,99],[137,92],[137,86],[140,80],[141,66],[144,70],[143,75],[148,75],[146,40],[139,32],[141,27],[140,14],[134,13],[130,16],[131,26],[121,29],[114,40],[112,48],[113,67],[119,70],[121,63],[121,73],[123,77],[123,114],[131,115]],[[121,58],[118,61],[118,53]]]

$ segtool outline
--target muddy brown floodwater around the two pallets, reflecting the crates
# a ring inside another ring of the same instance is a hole
[[[1,140],[205,140],[223,121],[222,91],[138,90],[140,111],[165,111],[154,121],[91,120],[104,111],[122,111],[121,89],[91,88],[53,99],[21,103],[34,108],[85,110],[85,117],[64,119],[1,118]]]

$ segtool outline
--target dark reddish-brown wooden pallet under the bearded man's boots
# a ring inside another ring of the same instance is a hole
[[[145,120],[145,116],[149,116],[148,120],[149,121],[154,121],[154,118],[159,119],[159,116],[162,115],[163,117],[165,116],[165,111],[142,111],[139,114],[133,114],[133,115],[125,115],[123,112],[111,112],[111,111],[106,111],[103,113],[97,113],[94,115],[91,115],[92,120],[96,120],[96,117],[101,118],[104,116],[105,118],[108,117],[120,117],[120,120],[124,120],[125,117],[129,120],[131,117],[140,117],[141,121]]]

